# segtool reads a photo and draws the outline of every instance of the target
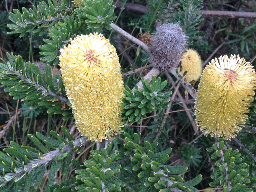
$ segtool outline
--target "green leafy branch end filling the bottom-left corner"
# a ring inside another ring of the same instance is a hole
[[[64,151],[63,149],[64,146],[66,148],[67,146],[72,146],[74,138],[69,134],[65,126],[62,126],[61,129],[67,139],[69,139],[69,143],[55,131],[50,131],[53,138],[46,137],[37,132],[37,137],[31,134],[29,134],[28,137],[40,151],[30,146],[20,146],[14,141],[10,142],[10,148],[3,150],[5,153],[0,151],[0,160],[2,162],[2,164],[0,164],[0,174],[3,175],[0,176],[1,192],[17,191],[17,187],[19,186],[20,188],[21,186],[19,182],[25,182],[24,186],[21,188],[23,192],[30,190],[32,182],[34,182],[33,188],[37,189],[49,165],[49,186],[53,185],[56,171],[62,169],[62,174],[67,174],[70,158],[75,149],[74,146],[70,147],[69,150],[65,149]],[[48,148],[60,151],[60,154],[52,158],[52,160],[45,162],[44,158],[49,151],[40,140],[43,141]],[[23,177],[25,175],[26,178],[24,181]]]

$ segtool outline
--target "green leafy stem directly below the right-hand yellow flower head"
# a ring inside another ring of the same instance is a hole
[[[249,186],[248,165],[241,158],[238,149],[227,148],[226,142],[221,140],[207,148],[207,151],[213,152],[211,159],[218,159],[215,162],[217,169],[211,175],[214,179],[209,183],[211,187],[223,185],[223,192],[253,192]]]

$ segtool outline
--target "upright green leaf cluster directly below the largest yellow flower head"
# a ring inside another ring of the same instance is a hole
[[[107,149],[92,150],[90,157],[92,160],[85,160],[84,165],[75,171],[75,189],[77,192],[106,192],[121,191],[124,183],[116,175],[120,173],[121,164],[115,163],[118,152]],[[103,187],[104,186],[104,187]]]

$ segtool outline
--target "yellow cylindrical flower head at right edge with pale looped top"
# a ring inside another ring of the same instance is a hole
[[[195,102],[196,121],[205,135],[230,140],[248,118],[256,86],[255,70],[244,58],[215,58],[203,70]]]

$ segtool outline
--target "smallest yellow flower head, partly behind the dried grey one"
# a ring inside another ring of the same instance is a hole
[[[200,55],[193,49],[188,49],[181,58],[182,75],[185,71],[187,74],[185,78],[187,81],[198,80],[202,74],[202,61]]]

